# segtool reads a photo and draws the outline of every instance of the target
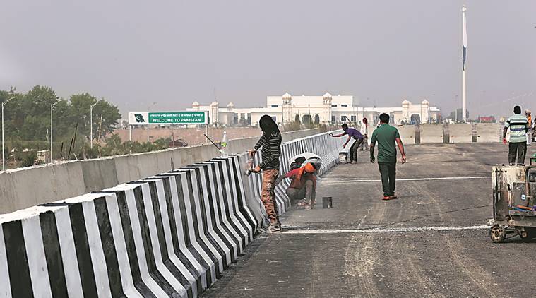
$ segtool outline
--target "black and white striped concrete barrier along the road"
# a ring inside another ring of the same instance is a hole
[[[282,144],[335,165],[326,134]],[[260,162],[261,156],[256,157]],[[198,297],[264,224],[261,175],[216,158],[99,193],[0,215],[0,297]],[[279,212],[290,208],[276,189]]]

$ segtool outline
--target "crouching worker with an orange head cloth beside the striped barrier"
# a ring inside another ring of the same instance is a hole
[[[303,200],[305,210],[314,208],[316,203],[316,165],[313,162],[307,162],[303,167],[292,169],[279,177],[275,184],[279,184],[286,178],[290,178],[290,186],[285,191],[287,196],[294,201]]]

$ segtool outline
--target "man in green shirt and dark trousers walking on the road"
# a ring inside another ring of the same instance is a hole
[[[383,200],[393,200],[395,196],[396,183],[396,144],[402,155],[401,162],[406,162],[404,145],[400,141],[398,129],[388,124],[389,115],[380,115],[380,126],[374,133],[370,142],[370,162],[374,162],[374,147],[378,141],[378,166],[380,168],[381,186],[383,188]]]

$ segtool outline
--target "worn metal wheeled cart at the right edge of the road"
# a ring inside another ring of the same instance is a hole
[[[536,166],[497,165],[492,169],[493,242],[520,236],[536,237]]]

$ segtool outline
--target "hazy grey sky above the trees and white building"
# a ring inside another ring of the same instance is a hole
[[[329,91],[366,106],[427,97],[448,114],[461,106],[463,3],[471,116],[536,108],[532,0],[6,0],[0,89],[89,92],[121,112],[208,104],[214,90],[237,107]]]

